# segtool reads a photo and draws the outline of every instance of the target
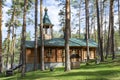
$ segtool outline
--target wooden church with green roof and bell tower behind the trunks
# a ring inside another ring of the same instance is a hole
[[[44,32],[44,62],[45,68],[51,66],[60,67],[64,66],[65,62],[65,40],[64,38],[53,38],[53,24],[45,9],[43,17],[43,32]],[[87,59],[87,47],[85,39],[70,38],[70,57],[72,55],[78,55],[75,59],[71,59],[71,62],[82,62]],[[38,57],[37,64],[40,67],[40,39],[38,39]],[[93,40],[89,40],[90,59],[95,59],[97,43]],[[34,65],[34,41],[26,41],[26,70],[33,70]]]

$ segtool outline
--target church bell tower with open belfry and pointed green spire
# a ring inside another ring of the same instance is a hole
[[[45,14],[43,17],[43,35],[44,39],[52,39],[53,38],[53,24],[51,23],[48,16],[48,9],[44,9]]]

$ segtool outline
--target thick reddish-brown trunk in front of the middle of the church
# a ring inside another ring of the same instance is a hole
[[[70,0],[66,0],[65,19],[65,71],[70,71],[69,33],[70,33]]]

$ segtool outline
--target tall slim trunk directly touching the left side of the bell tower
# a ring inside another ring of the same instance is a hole
[[[44,38],[43,38],[43,19],[42,19],[42,9],[43,9],[43,0],[40,0],[40,38],[41,38],[41,47],[40,47],[40,68],[41,71],[44,71]]]

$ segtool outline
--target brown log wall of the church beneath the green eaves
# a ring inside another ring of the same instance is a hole
[[[44,61],[45,62],[65,62],[65,52],[63,53],[63,48],[51,48],[51,53],[49,54],[50,48],[45,48],[44,52]],[[83,61],[87,59],[87,51],[85,48],[70,48],[70,55],[73,54],[73,51],[76,54],[79,54],[80,59],[74,59],[74,61]],[[38,61],[40,63],[40,49],[38,49]],[[95,59],[96,49],[90,48],[90,59]],[[72,61],[72,60],[71,60]],[[34,63],[34,49],[26,49],[26,63]]]

